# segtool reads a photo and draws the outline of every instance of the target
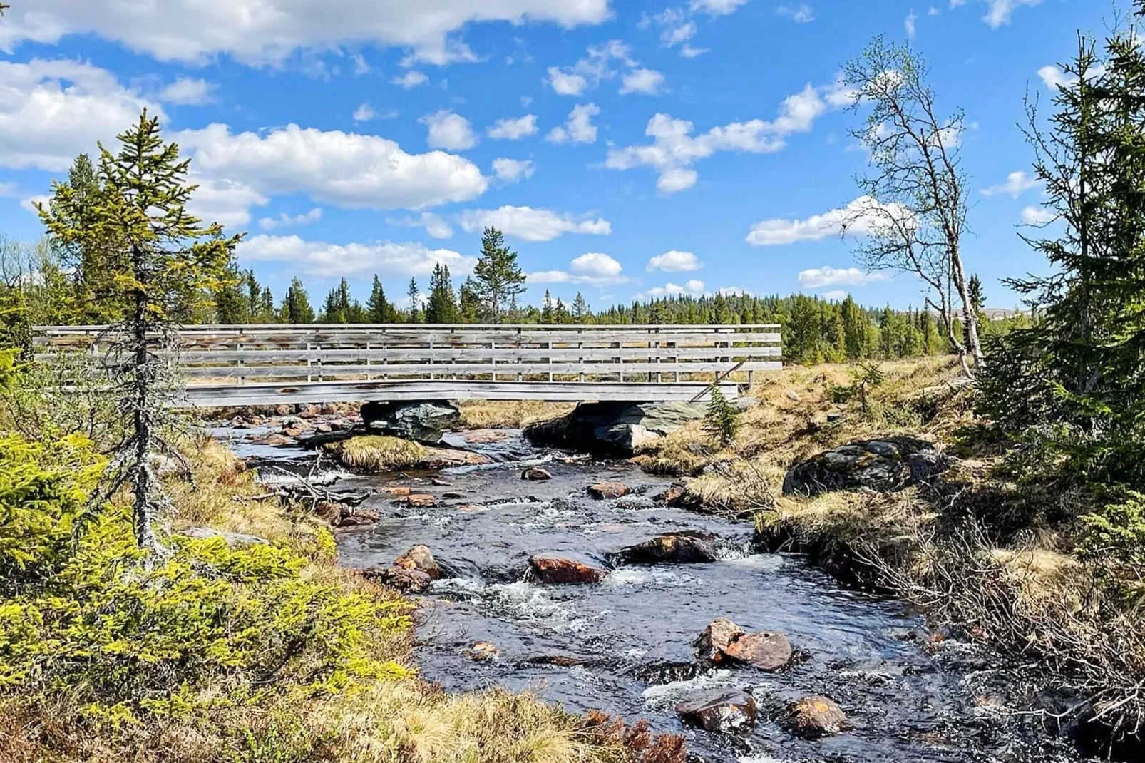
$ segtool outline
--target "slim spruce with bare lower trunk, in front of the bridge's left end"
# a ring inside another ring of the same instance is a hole
[[[109,337],[108,362],[126,434],[113,449],[97,500],[131,486],[136,542],[155,556],[164,552],[155,525],[169,501],[151,455],[164,450],[177,457],[167,439],[177,385],[164,351],[175,349],[174,316],[224,283],[242,236],[226,237],[218,223],[203,225],[188,213],[196,189],[187,183],[190,160],[180,159],[175,143],[163,141],[158,118],[144,110],[118,140],[118,154],[100,145],[100,202],[90,220],[78,225],[68,213],[79,192],[70,184],[55,189],[60,205],[39,211],[64,247],[105,259],[114,273],[110,296],[127,307]]]

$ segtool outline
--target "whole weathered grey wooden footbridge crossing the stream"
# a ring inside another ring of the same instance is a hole
[[[39,327],[37,360],[112,362],[106,327]],[[199,325],[163,351],[198,407],[369,400],[693,400],[782,367],[779,327]]]

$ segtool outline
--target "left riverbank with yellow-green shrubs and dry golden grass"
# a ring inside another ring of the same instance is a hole
[[[109,506],[3,605],[0,760],[623,763],[656,744],[529,694],[424,682],[409,600],[338,566],[326,522],[228,450],[188,453],[194,480],[164,470],[167,558],[140,564]],[[76,489],[63,467],[98,465],[86,450],[35,458]]]

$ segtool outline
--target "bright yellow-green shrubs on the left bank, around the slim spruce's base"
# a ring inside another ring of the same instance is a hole
[[[380,656],[404,603],[324,582],[285,546],[176,535],[149,560],[128,506],[87,509],[97,466],[81,443],[0,439],[0,693],[118,722],[406,672]]]

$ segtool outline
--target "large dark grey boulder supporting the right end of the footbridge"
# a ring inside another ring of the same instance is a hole
[[[632,455],[703,417],[698,403],[581,403],[561,418],[527,427],[524,435],[540,445]]]

